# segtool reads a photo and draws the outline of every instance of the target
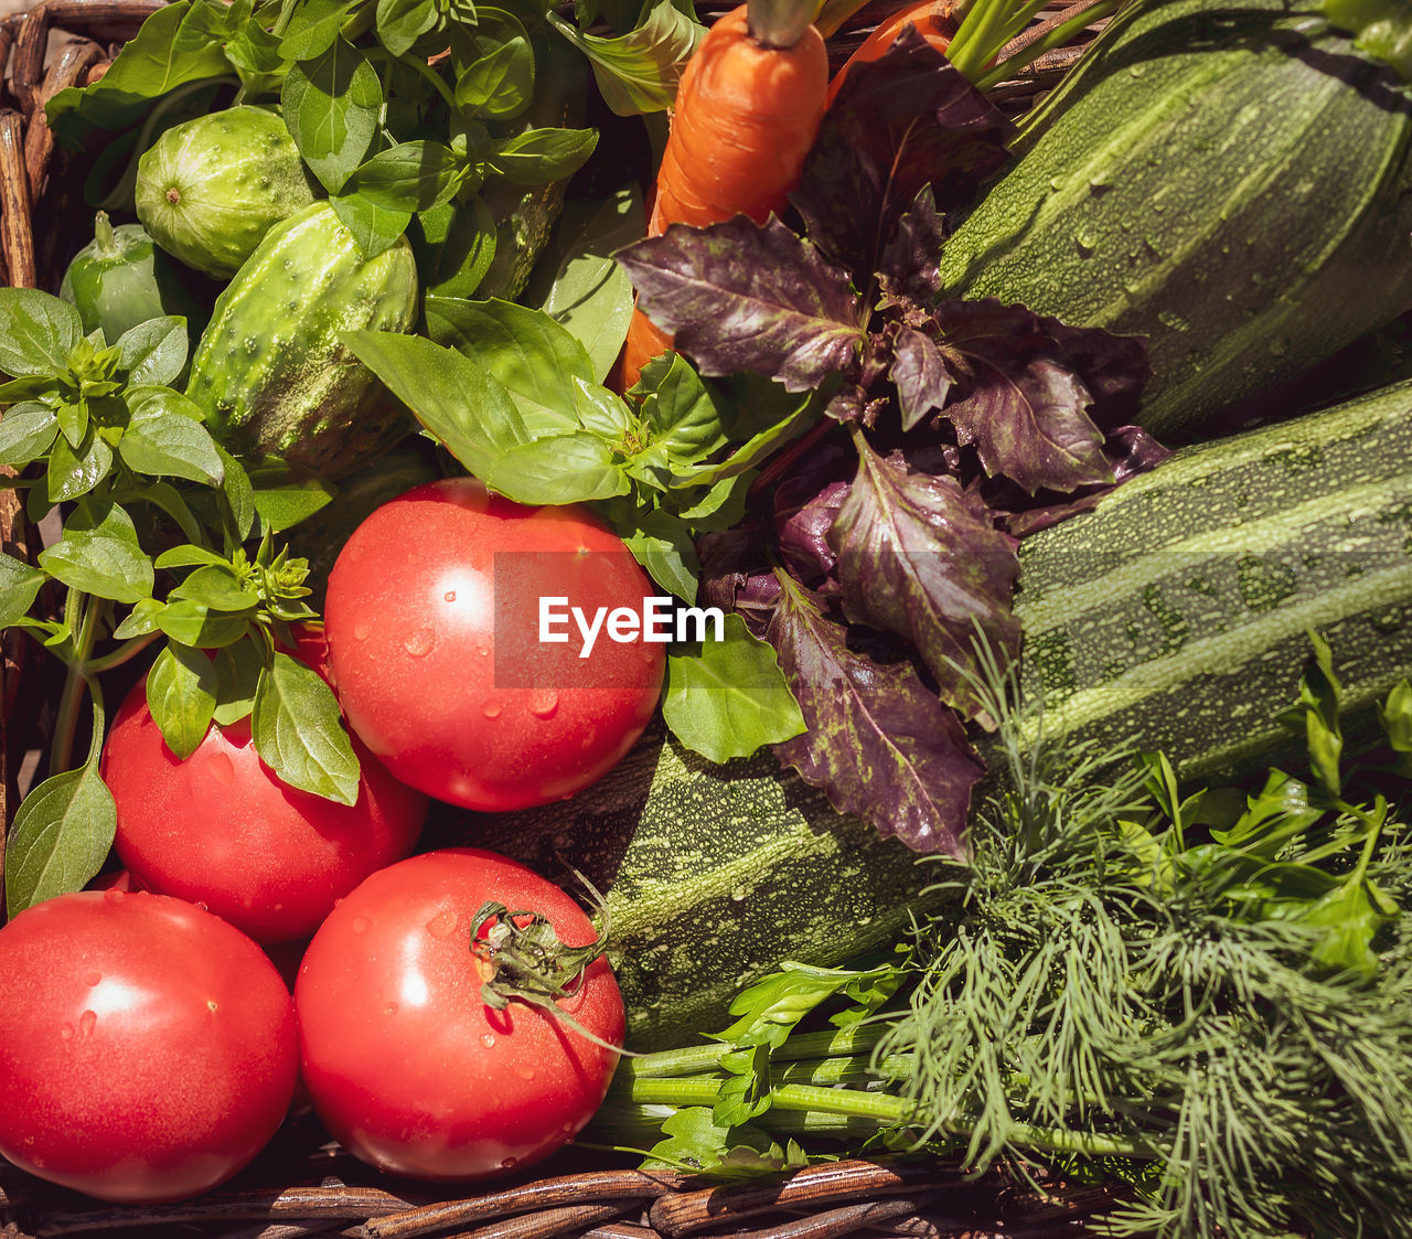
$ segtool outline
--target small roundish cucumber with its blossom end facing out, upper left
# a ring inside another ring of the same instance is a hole
[[[313,202],[284,120],[237,106],[165,130],[137,161],[137,218],[167,253],[233,275],[281,219]]]

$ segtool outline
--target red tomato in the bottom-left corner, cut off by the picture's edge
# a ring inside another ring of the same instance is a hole
[[[274,1134],[298,1071],[264,952],[161,894],[64,894],[0,930],[0,1153],[107,1201],[174,1201]]]

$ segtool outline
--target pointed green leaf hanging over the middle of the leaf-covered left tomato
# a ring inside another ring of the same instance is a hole
[[[275,651],[260,677],[250,728],[260,760],[282,783],[339,804],[357,802],[357,756],[333,691],[312,667]]]

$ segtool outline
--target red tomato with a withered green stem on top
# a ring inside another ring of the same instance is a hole
[[[534,910],[569,945],[582,908],[522,865],[473,848],[374,873],[313,935],[295,983],[304,1082],[347,1150],[419,1178],[481,1178],[546,1157],[603,1102],[617,1054],[548,1012],[481,1002],[472,920],[486,900]],[[620,1045],[623,999],[603,958],[563,1010]]]

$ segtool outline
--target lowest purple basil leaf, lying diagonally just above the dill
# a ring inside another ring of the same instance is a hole
[[[808,723],[777,756],[880,835],[964,856],[970,790],[984,766],[960,719],[911,663],[850,647],[850,630],[820,603],[784,581],[765,633]]]

